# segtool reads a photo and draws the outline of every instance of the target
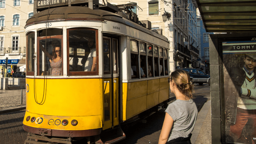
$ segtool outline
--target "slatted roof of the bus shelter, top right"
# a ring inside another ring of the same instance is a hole
[[[256,0],[196,0],[206,32],[255,32]]]

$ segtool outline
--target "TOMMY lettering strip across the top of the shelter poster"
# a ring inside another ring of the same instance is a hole
[[[223,53],[236,53],[236,52],[255,52],[256,42],[223,42],[222,43]]]

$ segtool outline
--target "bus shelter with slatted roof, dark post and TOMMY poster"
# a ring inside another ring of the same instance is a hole
[[[196,3],[206,32],[217,33],[209,35],[212,143],[255,144],[256,1]]]

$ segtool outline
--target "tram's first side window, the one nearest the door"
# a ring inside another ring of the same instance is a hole
[[[133,49],[133,45],[132,45],[132,42],[135,42],[136,45],[137,45],[137,50]],[[139,52],[138,52],[138,48],[139,48],[139,45],[138,45],[138,41],[137,40],[134,40],[134,39],[130,39],[130,51],[131,51],[131,68],[132,66],[136,66],[136,71],[132,69],[133,71],[133,76],[131,76],[132,79],[135,79],[135,78],[139,78],[139,72],[138,69],[139,69]],[[135,51],[133,51],[135,50]],[[134,57],[134,58],[133,58]],[[135,61],[132,61],[132,59],[134,59]],[[132,65],[132,64],[135,64],[135,65]],[[136,73],[136,75],[135,75]]]

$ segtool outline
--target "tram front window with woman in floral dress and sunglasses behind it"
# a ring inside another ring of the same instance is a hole
[[[49,37],[49,38],[48,38]],[[53,37],[53,38],[52,38]],[[55,37],[55,38],[54,38]],[[62,46],[61,36],[41,37],[39,40],[39,75],[41,76],[62,76]]]

